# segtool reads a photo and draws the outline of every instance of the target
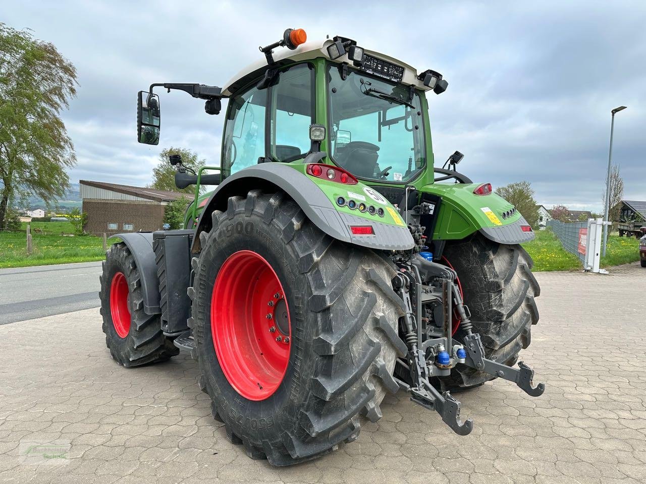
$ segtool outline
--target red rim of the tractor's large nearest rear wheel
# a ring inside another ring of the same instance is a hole
[[[211,334],[231,386],[264,400],[280,386],[291,347],[285,292],[264,257],[240,250],[224,261],[211,297]]]

